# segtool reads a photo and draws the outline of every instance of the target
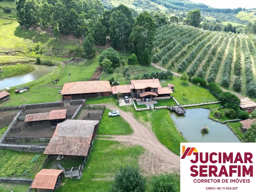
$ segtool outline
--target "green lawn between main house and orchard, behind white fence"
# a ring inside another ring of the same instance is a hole
[[[217,98],[206,89],[198,87],[190,82],[185,81],[185,83],[183,83],[183,81],[181,81],[179,77],[176,76],[174,76],[172,79],[160,79],[160,83],[164,87],[167,87],[168,83],[171,83],[175,86],[171,96],[174,96],[180,105],[218,101]],[[187,89],[189,93],[186,96],[183,96],[182,94],[182,90],[184,89]]]

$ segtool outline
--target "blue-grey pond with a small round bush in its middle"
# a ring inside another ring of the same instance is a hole
[[[227,125],[208,119],[210,110],[205,108],[188,109],[185,115],[171,113],[172,120],[182,135],[190,142],[241,142]],[[202,134],[207,125],[209,133]]]

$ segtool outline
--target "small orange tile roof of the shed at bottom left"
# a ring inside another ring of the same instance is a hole
[[[31,188],[54,189],[57,178],[62,170],[42,169],[34,178]]]

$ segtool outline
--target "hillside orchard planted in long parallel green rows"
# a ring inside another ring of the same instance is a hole
[[[256,96],[256,36],[204,31],[191,26],[157,29],[152,61],[201,77],[225,89]],[[241,89],[240,89],[241,88]]]

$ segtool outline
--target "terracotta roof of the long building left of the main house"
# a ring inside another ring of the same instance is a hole
[[[65,83],[61,95],[111,92],[109,81],[77,81]]]

